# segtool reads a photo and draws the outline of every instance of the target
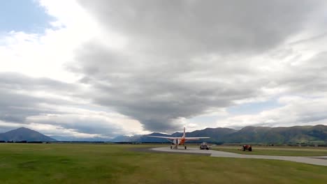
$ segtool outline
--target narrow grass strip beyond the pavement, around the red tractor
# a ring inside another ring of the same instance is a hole
[[[265,148],[252,147],[252,151],[240,151],[240,147],[215,146],[213,150],[226,151],[246,155],[279,155],[279,156],[327,156],[327,149],[323,148]]]

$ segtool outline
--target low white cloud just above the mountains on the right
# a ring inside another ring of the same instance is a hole
[[[259,126],[293,126],[293,125],[327,125],[327,97],[304,98],[286,96],[279,98],[283,107],[269,109],[259,114],[227,116],[217,121],[217,126],[242,128],[247,125]]]

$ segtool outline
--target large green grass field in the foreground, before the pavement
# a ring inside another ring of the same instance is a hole
[[[327,167],[145,153],[147,145],[0,144],[0,183],[326,183]]]

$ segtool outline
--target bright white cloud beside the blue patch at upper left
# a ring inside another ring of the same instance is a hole
[[[20,72],[31,77],[50,77],[75,82],[78,76],[66,70],[74,51],[91,38],[108,45],[101,29],[76,1],[40,1],[56,18],[44,34],[10,31],[0,38],[0,71]],[[116,40],[117,45],[122,45]],[[114,45],[114,43],[111,43]],[[113,46],[112,46],[113,47]]]

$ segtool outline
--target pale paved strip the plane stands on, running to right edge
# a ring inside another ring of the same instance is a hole
[[[270,160],[286,160],[292,162],[301,162],[305,164],[315,164],[327,166],[327,156],[322,157],[290,157],[290,156],[269,156],[269,155],[242,155],[238,153],[229,153],[224,151],[215,150],[200,150],[198,148],[184,148],[170,149],[169,147],[151,148],[153,151],[164,152],[177,152],[177,153],[210,153],[212,157],[224,157],[224,158],[256,158],[256,159],[270,159]]]

